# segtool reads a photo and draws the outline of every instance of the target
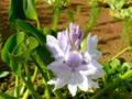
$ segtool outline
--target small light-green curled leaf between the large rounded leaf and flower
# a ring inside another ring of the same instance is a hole
[[[14,51],[10,54],[10,58],[16,63],[25,63],[28,62],[32,51],[37,46],[38,42],[35,40],[35,37],[29,36],[26,44],[21,43],[14,47]]]

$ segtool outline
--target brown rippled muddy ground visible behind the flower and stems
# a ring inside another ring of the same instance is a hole
[[[2,0],[2,2],[0,2],[0,34],[2,34],[3,40],[7,40],[11,34],[8,23],[8,7],[9,0]],[[51,26],[53,19],[52,7],[44,3],[44,0],[40,0],[36,8],[42,26]],[[76,13],[77,8],[79,8],[80,11],[75,15],[75,22],[81,28],[86,25],[90,15],[90,9],[87,6],[86,0],[72,0],[72,4],[68,8],[70,8],[74,13]],[[61,14],[58,31],[65,30],[67,25],[68,19],[66,16],[66,11],[64,11]],[[121,38],[122,28],[122,21],[110,16],[108,8],[100,9],[100,15],[91,33],[99,36],[99,50],[102,52],[102,57],[99,59],[101,63],[110,61],[113,55],[127,46],[124,41]],[[132,62],[131,57],[132,53],[130,52],[120,56],[120,58],[123,58],[127,62]],[[0,69],[6,69],[6,65],[1,61]]]

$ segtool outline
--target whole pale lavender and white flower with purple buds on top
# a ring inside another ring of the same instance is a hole
[[[98,79],[103,76],[103,70],[97,62],[101,53],[97,50],[97,36],[88,35],[88,45],[85,53],[81,52],[80,43],[82,32],[79,25],[70,23],[66,31],[59,32],[57,38],[47,35],[47,47],[55,58],[47,68],[55,78],[48,85],[55,85],[54,90],[67,85],[72,96],[77,88],[88,91],[89,88],[99,88]]]

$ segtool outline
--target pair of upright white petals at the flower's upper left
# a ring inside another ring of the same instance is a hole
[[[52,52],[55,59],[64,57],[64,54],[69,52],[67,31],[58,32],[57,38],[52,35],[46,35],[46,46]]]

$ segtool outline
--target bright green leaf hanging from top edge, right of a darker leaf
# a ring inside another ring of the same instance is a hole
[[[37,20],[37,12],[35,9],[35,0],[23,0],[23,9],[26,18]]]

